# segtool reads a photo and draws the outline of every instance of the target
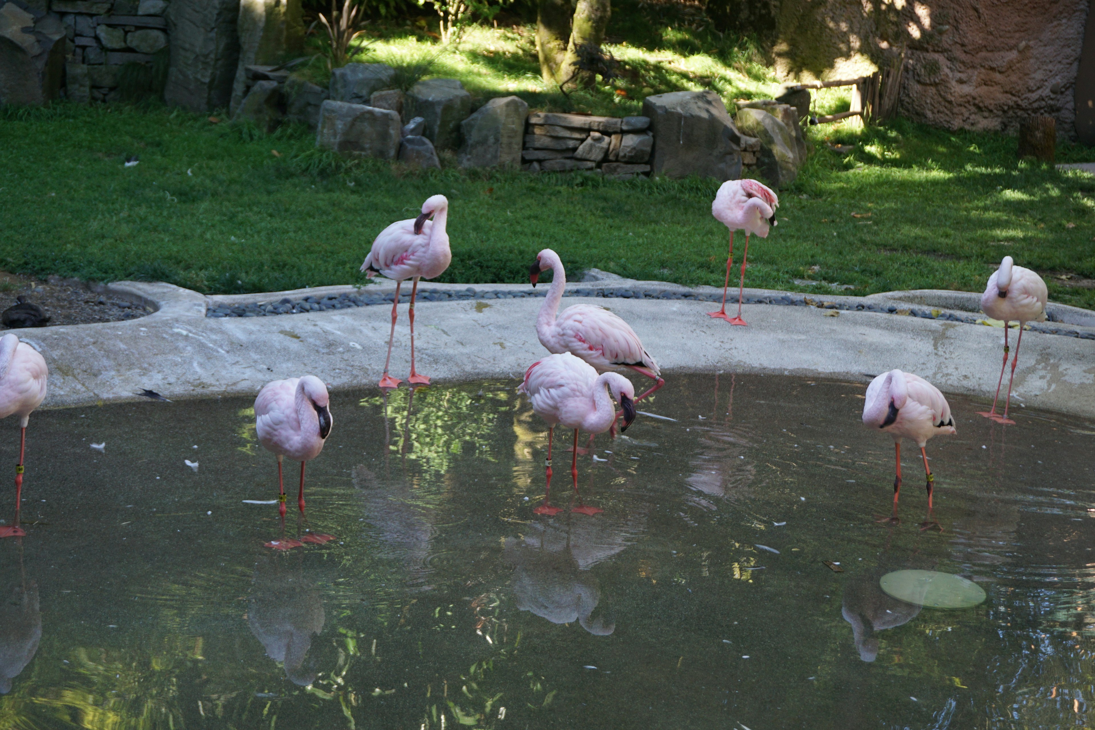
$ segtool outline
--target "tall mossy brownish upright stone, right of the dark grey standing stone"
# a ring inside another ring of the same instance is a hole
[[[240,61],[232,84],[232,114],[247,92],[249,66],[277,65],[303,51],[300,0],[240,0],[235,28],[240,37]]]

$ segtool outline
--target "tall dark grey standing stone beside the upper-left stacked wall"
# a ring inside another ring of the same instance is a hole
[[[240,60],[240,0],[173,0],[168,9],[171,62],[164,101],[192,112],[228,106]]]

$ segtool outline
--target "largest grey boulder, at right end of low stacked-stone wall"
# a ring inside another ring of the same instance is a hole
[[[721,182],[741,174],[738,130],[713,91],[676,91],[647,96],[643,116],[654,132],[654,175],[699,175]]]

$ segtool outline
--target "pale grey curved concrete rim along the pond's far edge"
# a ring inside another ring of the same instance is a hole
[[[683,287],[612,280],[590,287]],[[462,289],[466,285],[430,285]],[[482,287],[482,285],[481,285]],[[267,317],[206,317],[216,303],[277,301],[281,297],[338,293],[322,287],[265,296],[204,297],[163,283],[119,282],[110,291],[159,308],[129,322],[20,331],[50,369],[47,406],[135,399],[140,389],[169,398],[251,395],[267,381],[314,373],[335,390],[377,383],[383,368],[391,308],[351,308]],[[492,290],[527,289],[491,285]],[[376,291],[391,291],[380,285]],[[373,291],[370,288],[370,291]],[[713,291],[703,287],[694,291]],[[747,290],[764,294],[763,290]],[[976,311],[977,294],[889,292],[872,301],[942,304]],[[829,301],[862,302],[852,297]],[[542,299],[419,302],[416,306],[418,370],[435,381],[519,378],[546,355],[537,340]],[[1002,357],[999,327],[913,316],[812,306],[746,305],[748,327],[712,320],[710,302],[567,298],[607,305],[643,338],[664,373],[764,372],[865,381],[892,368],[918,373],[944,392],[992,397]],[[1058,308],[1075,332],[1095,333],[1095,314]],[[1013,335],[1016,333],[1013,333]],[[1013,339],[1014,344],[1014,339]],[[392,374],[410,367],[406,306],[400,308]],[[1015,373],[1017,403],[1095,417],[1095,339],[1027,332]]]

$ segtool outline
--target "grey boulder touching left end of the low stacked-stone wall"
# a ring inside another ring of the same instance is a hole
[[[525,119],[529,105],[517,96],[492,99],[460,123],[464,142],[457,155],[461,167],[517,167],[521,164]]]

